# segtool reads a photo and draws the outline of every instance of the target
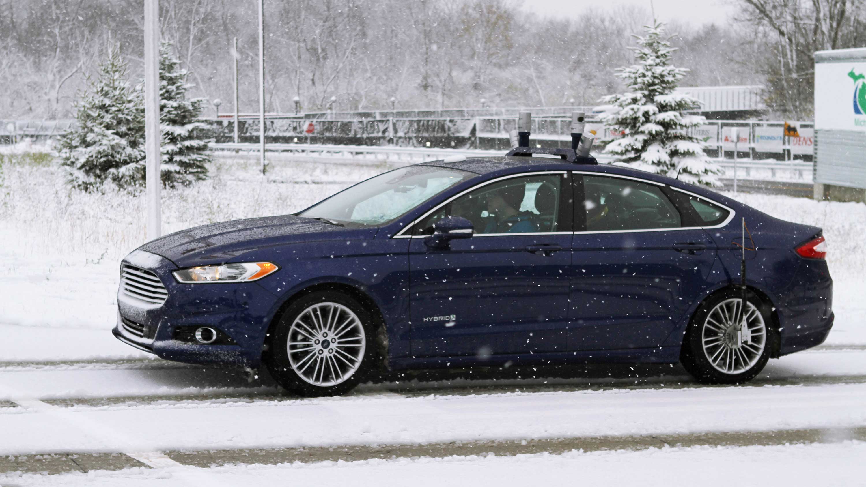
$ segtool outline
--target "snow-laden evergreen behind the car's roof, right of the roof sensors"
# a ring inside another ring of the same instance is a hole
[[[688,183],[721,186],[722,170],[701,149],[698,138],[689,129],[704,123],[704,118],[687,115],[698,100],[674,90],[688,72],[670,65],[675,48],[664,38],[664,24],[653,21],[644,26],[647,35],[637,38],[638,64],[617,68],[617,76],[626,81],[630,92],[602,99],[605,125],[624,132],[608,144],[605,152],[617,156],[617,162],[639,170],[676,176]]]

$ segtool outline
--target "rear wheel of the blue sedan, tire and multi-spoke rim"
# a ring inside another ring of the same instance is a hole
[[[752,293],[746,296],[748,331],[734,326],[741,305],[740,291],[727,290],[707,298],[695,311],[682,343],[680,361],[689,374],[705,384],[738,384],[760,374],[776,343],[770,310]]]

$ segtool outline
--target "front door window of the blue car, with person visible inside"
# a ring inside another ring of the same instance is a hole
[[[436,209],[419,221],[413,235],[433,233],[433,224],[446,216],[472,222],[475,234],[532,234],[558,231],[559,175],[504,179],[474,189]]]

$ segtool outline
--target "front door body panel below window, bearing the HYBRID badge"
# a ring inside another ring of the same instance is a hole
[[[410,244],[412,355],[564,351],[571,234]],[[527,247],[558,246],[559,251]]]

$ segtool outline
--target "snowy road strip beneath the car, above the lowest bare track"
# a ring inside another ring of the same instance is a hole
[[[224,369],[167,362],[0,368],[0,455],[773,432],[866,426],[866,350],[771,362],[754,384],[669,375],[385,381],[282,396]]]

